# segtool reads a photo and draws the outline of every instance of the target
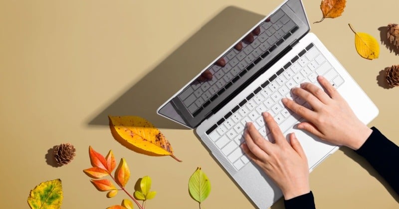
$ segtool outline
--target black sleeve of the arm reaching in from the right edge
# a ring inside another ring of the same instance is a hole
[[[399,147],[377,128],[366,142],[355,151],[363,156],[399,195]]]

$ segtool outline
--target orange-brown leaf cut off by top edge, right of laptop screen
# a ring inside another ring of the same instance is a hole
[[[323,12],[323,18],[318,23],[324,20],[324,18],[335,18],[341,16],[346,6],[346,0],[322,0],[320,9]]]

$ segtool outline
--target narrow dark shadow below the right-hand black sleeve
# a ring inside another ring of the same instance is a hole
[[[367,162],[366,159],[361,157],[360,155],[356,154],[352,149],[347,148],[347,147],[341,147],[340,150],[349,158],[354,160],[356,163],[358,163],[360,166],[362,166],[363,169],[365,169],[370,176],[376,178],[384,187],[385,189],[390,193],[390,195],[399,203],[399,194],[395,192],[394,189],[388,184],[387,181],[383,177],[380,176],[380,174]]]

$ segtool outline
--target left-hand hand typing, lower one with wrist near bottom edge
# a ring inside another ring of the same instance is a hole
[[[285,200],[309,193],[308,160],[295,134],[290,134],[288,143],[270,114],[263,113],[263,119],[275,143],[265,140],[249,122],[244,132],[243,151],[276,183]]]

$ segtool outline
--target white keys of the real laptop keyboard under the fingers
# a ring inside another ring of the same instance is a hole
[[[245,141],[243,130],[246,122],[253,122],[259,133],[270,140],[270,131],[265,127],[261,115],[267,111],[284,133],[302,118],[285,108],[281,99],[287,97],[311,109],[308,103],[292,94],[290,89],[303,82],[314,83],[321,88],[317,82],[318,75],[323,75],[336,88],[344,83],[343,78],[311,43],[209,128],[206,134],[234,168],[240,170],[249,163],[248,157],[239,147]]]

